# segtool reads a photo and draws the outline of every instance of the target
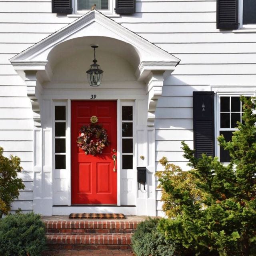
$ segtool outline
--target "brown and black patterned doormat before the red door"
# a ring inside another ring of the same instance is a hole
[[[88,219],[88,220],[124,220],[124,214],[122,213],[71,213],[70,219]]]

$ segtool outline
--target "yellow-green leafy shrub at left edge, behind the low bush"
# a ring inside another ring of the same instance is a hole
[[[3,156],[3,148],[0,147],[0,218],[10,211],[11,203],[19,196],[19,190],[25,186],[22,180],[17,178],[21,172],[20,158]]]

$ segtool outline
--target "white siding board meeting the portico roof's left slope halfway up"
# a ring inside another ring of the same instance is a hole
[[[49,36],[51,33],[22,33],[17,36],[17,33],[1,33],[0,42],[1,43],[26,43],[35,44],[42,39]]]

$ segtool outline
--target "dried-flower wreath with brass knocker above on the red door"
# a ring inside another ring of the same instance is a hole
[[[91,124],[84,125],[80,129],[80,136],[77,138],[77,146],[84,150],[85,154],[102,154],[102,151],[108,146],[108,134],[98,122],[97,116],[90,118]]]

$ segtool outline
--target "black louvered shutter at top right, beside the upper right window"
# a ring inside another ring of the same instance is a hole
[[[238,0],[217,0],[217,28],[237,29]]]

